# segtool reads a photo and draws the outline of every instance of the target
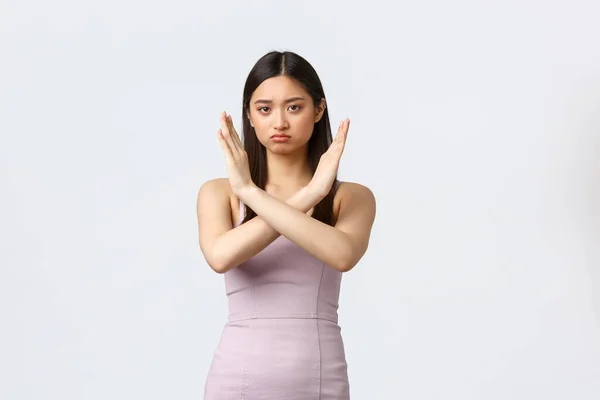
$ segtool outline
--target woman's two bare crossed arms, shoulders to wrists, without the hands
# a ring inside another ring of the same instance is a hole
[[[197,199],[200,249],[217,273],[242,264],[280,235],[341,272],[351,270],[367,250],[376,203],[373,193],[365,186],[350,182],[340,184],[336,194],[339,213],[335,226],[307,215],[323,198],[310,185],[285,200],[253,187],[239,197],[257,216],[234,227],[228,184],[227,179],[207,181]]]

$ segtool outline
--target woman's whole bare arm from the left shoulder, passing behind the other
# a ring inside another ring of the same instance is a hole
[[[284,204],[307,213],[318,200],[303,188]],[[208,181],[200,188],[197,213],[200,248],[208,265],[217,273],[237,267],[280,236],[259,216],[234,228],[229,193],[218,180]]]

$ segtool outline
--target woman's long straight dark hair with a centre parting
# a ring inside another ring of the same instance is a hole
[[[262,56],[252,67],[246,84],[244,85],[244,94],[242,100],[242,135],[244,137],[244,149],[248,154],[250,165],[250,175],[256,186],[265,189],[267,183],[267,156],[266,148],[256,137],[256,132],[250,120],[250,97],[256,88],[265,80],[276,76],[285,75],[296,80],[311,96],[315,107],[325,98],[325,92],[321,80],[315,69],[308,61],[296,53],[290,51],[272,51]],[[323,111],[323,116],[319,122],[315,123],[313,134],[308,141],[308,164],[314,175],[321,155],[329,148],[332,142],[331,125],[329,122],[328,107]],[[331,190],[317,204],[313,210],[312,217],[333,225],[333,197],[338,186],[337,176]],[[254,218],[256,213],[249,207],[246,207],[246,215],[242,223]]]

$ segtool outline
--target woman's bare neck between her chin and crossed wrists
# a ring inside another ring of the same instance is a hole
[[[312,171],[306,160],[306,150],[292,154],[274,154],[267,150],[267,184],[277,187],[306,186]]]

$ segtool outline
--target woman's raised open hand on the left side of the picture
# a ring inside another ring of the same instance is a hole
[[[221,129],[217,132],[217,137],[225,154],[229,184],[233,193],[240,197],[240,193],[255,185],[250,176],[248,154],[233,127],[231,115],[225,112],[221,114]]]

